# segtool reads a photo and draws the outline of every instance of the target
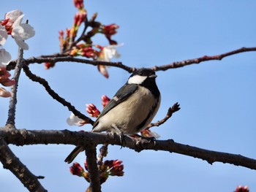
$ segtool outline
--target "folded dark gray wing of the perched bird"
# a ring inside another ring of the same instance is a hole
[[[138,85],[136,84],[125,84],[122,86],[117,92],[116,95],[113,96],[113,99],[111,99],[104,110],[100,113],[99,117],[94,123],[94,126],[97,126],[99,118],[102,118],[104,115],[106,115],[110,110],[112,110],[114,107],[116,107],[118,104],[121,104],[124,100],[129,98],[129,96],[132,95],[136,90],[138,89]]]

